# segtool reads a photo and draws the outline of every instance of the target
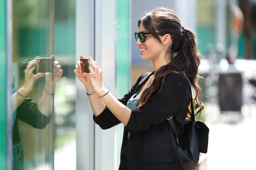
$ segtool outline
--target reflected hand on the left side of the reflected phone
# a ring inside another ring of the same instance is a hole
[[[35,70],[35,65],[39,62],[39,57],[36,57],[32,61],[28,62],[28,65],[25,70],[25,81],[24,85],[22,86],[22,90],[26,93],[24,94],[27,96],[29,94],[35,85],[35,82],[43,77],[45,74],[44,73],[38,73],[38,74],[33,74],[33,71]]]

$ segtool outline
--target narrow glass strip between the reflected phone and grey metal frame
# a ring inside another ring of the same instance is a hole
[[[55,88],[54,164],[76,170],[76,1],[55,0],[54,8],[54,54],[64,70]]]

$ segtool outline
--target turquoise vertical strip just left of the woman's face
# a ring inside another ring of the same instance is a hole
[[[130,89],[130,7],[129,0],[116,1],[116,97],[122,98]],[[132,42],[134,39],[132,38]],[[120,164],[124,125],[116,126],[116,166]]]

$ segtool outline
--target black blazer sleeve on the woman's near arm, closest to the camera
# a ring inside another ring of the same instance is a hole
[[[132,110],[126,130],[137,133],[150,125],[166,121],[177,112],[187,96],[189,83],[181,74],[170,74],[163,82],[161,91],[153,94],[142,107]]]

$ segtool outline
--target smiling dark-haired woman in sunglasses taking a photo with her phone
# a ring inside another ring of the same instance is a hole
[[[154,71],[142,74],[122,99],[104,87],[102,70],[91,57],[90,74],[81,73],[79,62],[74,72],[85,85],[96,124],[102,129],[125,125],[119,170],[177,170],[166,119],[173,116],[178,133],[183,133],[191,111],[190,86],[182,72],[195,89],[195,101],[200,94],[197,77],[201,59],[195,35],[166,8],[140,17],[138,28],[135,37],[141,59],[151,60]]]

